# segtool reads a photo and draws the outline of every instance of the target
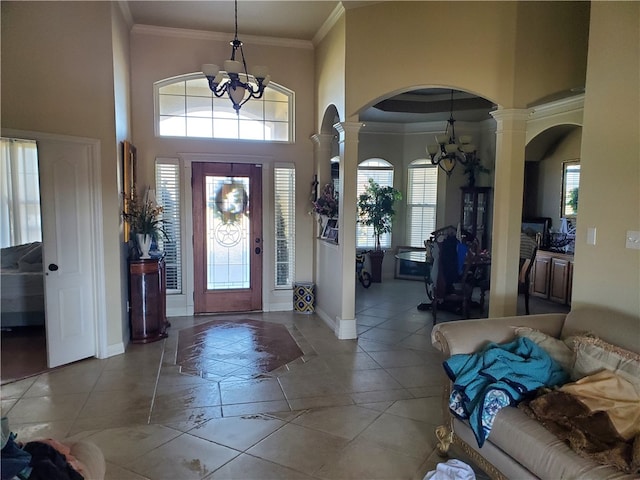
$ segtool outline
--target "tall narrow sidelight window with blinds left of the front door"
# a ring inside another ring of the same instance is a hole
[[[167,272],[167,294],[182,292],[182,235],[180,222],[180,168],[178,160],[156,161],[156,201],[169,239],[159,238]]]

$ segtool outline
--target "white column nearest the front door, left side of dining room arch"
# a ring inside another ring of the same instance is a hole
[[[359,122],[336,123],[340,134],[340,204],[338,208],[339,250],[342,265],[336,266],[342,277],[340,314],[336,335],[340,339],[357,338],[356,329],[356,188],[358,178]]]

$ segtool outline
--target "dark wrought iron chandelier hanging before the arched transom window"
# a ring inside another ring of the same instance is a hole
[[[216,97],[229,95],[233,109],[240,114],[240,107],[247,101],[262,97],[271,77],[269,77],[269,69],[263,66],[255,66],[251,70],[251,75],[248,73],[242,42],[238,40],[238,0],[235,0],[235,21],[235,35],[229,42],[231,59],[224,61],[224,70],[220,70],[218,65],[212,63],[204,64],[202,73],[207,77],[213,94]],[[236,60],[238,50],[240,50],[242,61]]]

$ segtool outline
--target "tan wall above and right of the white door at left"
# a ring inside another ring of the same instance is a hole
[[[122,342],[109,2],[2,2],[2,127],[101,142],[108,344]]]

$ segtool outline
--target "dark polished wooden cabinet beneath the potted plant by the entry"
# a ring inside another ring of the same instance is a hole
[[[132,343],[167,337],[166,271],[163,258],[129,261],[129,326]]]

